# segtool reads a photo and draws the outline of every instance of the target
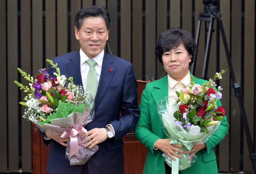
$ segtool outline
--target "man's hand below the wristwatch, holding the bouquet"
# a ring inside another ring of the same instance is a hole
[[[87,134],[89,137],[86,137]],[[96,144],[99,144],[108,138],[107,130],[105,128],[94,128],[88,131],[87,134],[83,134],[81,136],[81,137],[86,137],[83,141],[81,141],[82,144],[89,141],[87,144],[84,145],[85,148],[89,145],[90,145],[89,148],[92,148]]]

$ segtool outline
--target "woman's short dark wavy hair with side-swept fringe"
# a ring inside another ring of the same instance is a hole
[[[168,29],[159,35],[154,52],[162,65],[163,53],[176,48],[180,44],[183,44],[188,51],[188,55],[192,56],[189,66],[192,65],[196,56],[196,42],[190,33],[179,27]]]

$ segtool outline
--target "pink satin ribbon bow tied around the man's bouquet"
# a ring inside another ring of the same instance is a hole
[[[77,139],[77,134],[87,134],[87,130],[85,128],[83,128],[83,126],[79,127],[78,130],[76,129],[72,129],[70,131],[64,131],[60,137],[65,138],[65,137],[70,137],[70,156],[75,155],[76,152],[78,152],[78,139]],[[79,137],[80,139],[80,137]],[[81,144],[81,140],[80,140],[80,144]],[[82,145],[82,144],[81,144]]]

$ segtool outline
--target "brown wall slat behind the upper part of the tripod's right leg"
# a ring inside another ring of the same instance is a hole
[[[222,14],[222,23],[226,34],[226,39],[228,46],[230,48],[230,2],[229,1],[221,1],[220,4],[220,12]],[[230,49],[229,49],[230,50]],[[222,80],[220,80],[220,86],[223,88],[222,93],[222,106],[225,109],[225,115],[227,116],[227,120],[230,123],[230,70],[228,68],[228,62],[226,57],[226,52],[224,49],[224,44],[222,41],[222,37],[220,36],[220,70],[226,70],[226,73],[222,76]],[[231,88],[231,90],[233,90]],[[227,163],[230,151],[230,129],[228,131],[228,135],[219,143],[219,170],[220,171],[229,171],[230,163]]]

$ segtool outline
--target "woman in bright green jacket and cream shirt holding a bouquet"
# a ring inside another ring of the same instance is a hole
[[[196,153],[197,160],[181,174],[217,174],[216,156],[212,150],[227,134],[229,128],[226,116],[216,131],[206,143],[194,145],[191,151],[183,152],[176,148],[177,144],[169,144],[170,138],[163,131],[158,115],[156,101],[168,96],[168,103],[173,104],[177,99],[175,91],[188,88],[190,72],[188,67],[193,63],[196,54],[196,43],[190,33],[180,28],[173,28],[160,34],[155,47],[155,53],[167,74],[165,77],[147,83],[140,101],[139,121],[134,129],[135,136],[149,151],[143,174],[170,174],[171,168],[164,162],[163,152],[175,160],[173,155],[181,158],[174,151],[188,154]],[[196,84],[205,80],[194,77]],[[217,107],[221,106],[217,101]]]

